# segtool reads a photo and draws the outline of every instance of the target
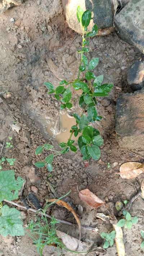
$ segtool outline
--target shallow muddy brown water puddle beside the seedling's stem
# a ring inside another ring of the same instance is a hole
[[[76,120],[74,117],[71,116],[71,113],[68,113],[66,110],[62,110],[59,113],[59,117],[57,120],[51,120],[49,117],[45,117],[48,126],[46,131],[57,140],[58,143],[60,142],[67,142],[69,139],[71,127],[76,125]],[[74,135],[72,139],[77,141],[77,137]]]

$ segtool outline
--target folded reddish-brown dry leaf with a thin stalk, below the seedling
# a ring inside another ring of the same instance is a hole
[[[82,201],[86,202],[92,208],[98,208],[103,205],[104,202],[93,194],[89,189],[79,191],[79,197]]]

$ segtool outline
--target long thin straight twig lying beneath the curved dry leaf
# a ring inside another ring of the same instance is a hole
[[[8,200],[4,200],[5,202],[7,203],[10,203],[11,205],[15,205],[17,207],[20,207],[24,210],[27,210],[27,208],[25,206],[22,206],[22,205],[19,205],[18,203],[15,203],[15,202],[12,202],[12,201],[8,201]],[[31,212],[35,212],[36,214],[41,214],[41,215],[44,215],[50,219],[52,219],[52,217],[49,215],[49,214],[44,214],[43,212],[40,212],[39,210],[35,210],[33,208],[29,208],[28,211],[31,211]],[[63,223],[63,224],[67,224],[67,225],[70,225],[70,226],[73,226],[73,223],[69,222],[69,221],[66,221],[66,220],[59,220],[59,219],[56,219],[58,220],[59,222]],[[77,224],[74,224],[77,226]],[[89,227],[89,226],[85,226],[85,225],[81,225],[82,228],[85,228],[87,230],[90,230],[92,232],[95,232],[95,228],[92,228],[92,227]]]

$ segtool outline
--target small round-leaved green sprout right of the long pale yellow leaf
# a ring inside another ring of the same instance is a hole
[[[118,221],[117,226],[119,227],[123,227],[125,226],[125,228],[131,229],[132,225],[137,224],[138,223],[138,217],[131,217],[130,213],[127,211],[123,211],[123,216],[124,219],[121,219]]]

